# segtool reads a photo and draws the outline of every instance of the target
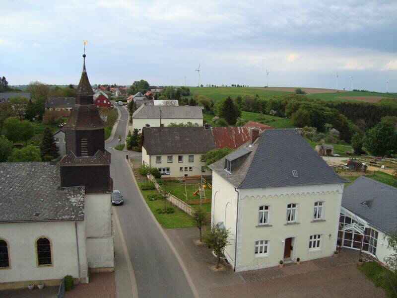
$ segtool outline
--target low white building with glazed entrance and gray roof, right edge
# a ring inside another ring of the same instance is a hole
[[[339,219],[339,243],[342,247],[372,255],[381,263],[392,253],[388,232],[397,229],[397,188],[360,176],[343,192]]]

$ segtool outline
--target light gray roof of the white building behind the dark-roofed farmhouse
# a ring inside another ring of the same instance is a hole
[[[132,118],[155,118],[160,119],[201,119],[201,106],[154,106],[141,105],[132,114]]]

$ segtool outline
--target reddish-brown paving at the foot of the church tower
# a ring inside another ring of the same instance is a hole
[[[116,298],[115,273],[92,273],[88,284],[73,286],[65,298]]]

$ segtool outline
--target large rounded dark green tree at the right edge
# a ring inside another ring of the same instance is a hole
[[[397,151],[396,128],[391,122],[379,122],[364,136],[363,146],[372,155],[384,156]]]

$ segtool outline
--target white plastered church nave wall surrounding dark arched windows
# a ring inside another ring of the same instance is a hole
[[[85,226],[77,222],[80,277],[87,280]],[[36,241],[45,236],[51,242],[52,265],[38,266]],[[78,278],[74,222],[27,222],[0,224],[0,238],[8,243],[10,267],[0,269],[0,290],[21,281],[61,280],[65,275]]]

